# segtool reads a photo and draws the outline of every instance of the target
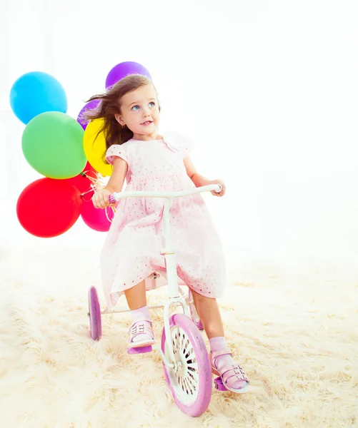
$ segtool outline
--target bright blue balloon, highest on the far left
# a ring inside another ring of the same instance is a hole
[[[10,91],[10,105],[21,122],[45,111],[67,111],[67,97],[61,83],[42,71],[31,71],[19,77]]]

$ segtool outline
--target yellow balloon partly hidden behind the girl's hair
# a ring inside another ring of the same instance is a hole
[[[94,119],[86,126],[84,130],[84,154],[93,168],[105,176],[111,175],[113,168],[112,165],[104,162],[106,139],[103,132],[99,133],[103,123],[103,119]]]

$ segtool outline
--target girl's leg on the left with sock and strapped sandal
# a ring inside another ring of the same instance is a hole
[[[145,346],[154,343],[154,334],[151,328],[151,317],[146,305],[145,281],[124,291],[126,302],[131,310],[133,322],[130,328],[129,343],[131,346]]]

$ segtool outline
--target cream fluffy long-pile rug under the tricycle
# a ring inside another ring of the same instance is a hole
[[[129,315],[89,338],[87,290],[98,251],[29,239],[0,248],[0,420],[6,428],[357,427],[358,266],[240,265],[220,301],[227,338],[251,379],[207,412],[176,408],[155,353],[126,354]],[[151,302],[165,290],[151,292]],[[160,337],[161,312],[154,315]]]

